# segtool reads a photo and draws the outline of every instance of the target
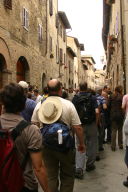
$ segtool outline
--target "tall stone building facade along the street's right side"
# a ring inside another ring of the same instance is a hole
[[[124,87],[126,92],[126,41],[124,7],[125,0],[103,1],[103,44],[107,58],[107,81],[112,90],[117,85]],[[127,5],[126,5],[127,4]],[[127,38],[128,39],[128,38]],[[128,89],[128,88],[127,88]]]

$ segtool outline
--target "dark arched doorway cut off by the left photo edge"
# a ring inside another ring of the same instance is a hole
[[[7,68],[5,58],[2,54],[0,54],[0,89],[4,85],[5,81],[5,73],[4,70]]]

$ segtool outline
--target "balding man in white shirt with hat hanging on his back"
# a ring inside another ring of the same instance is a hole
[[[85,152],[83,129],[74,105],[61,98],[62,87],[57,79],[48,82],[48,93],[48,98],[42,104],[40,102],[35,108],[32,122],[37,123],[39,121],[43,124],[43,158],[48,171],[51,191],[72,192],[75,166],[73,134],[76,134],[79,141],[78,151],[83,153]],[[56,132],[58,124],[59,130]],[[69,141],[70,138],[69,142],[64,142],[61,127],[65,127],[66,134],[69,133],[67,140]],[[53,135],[47,133],[50,130]],[[58,135],[58,139],[55,138],[54,140],[56,135]],[[57,142],[55,143],[53,140]]]

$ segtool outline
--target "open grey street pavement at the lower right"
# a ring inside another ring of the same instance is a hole
[[[85,172],[83,180],[76,179],[74,192],[128,192],[122,184],[127,175],[124,150],[112,152],[110,145],[105,144],[101,160],[96,162],[96,170]]]

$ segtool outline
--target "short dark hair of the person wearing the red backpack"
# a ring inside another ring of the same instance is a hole
[[[24,89],[17,83],[10,83],[0,91],[0,103],[7,113],[21,112],[25,108]]]

